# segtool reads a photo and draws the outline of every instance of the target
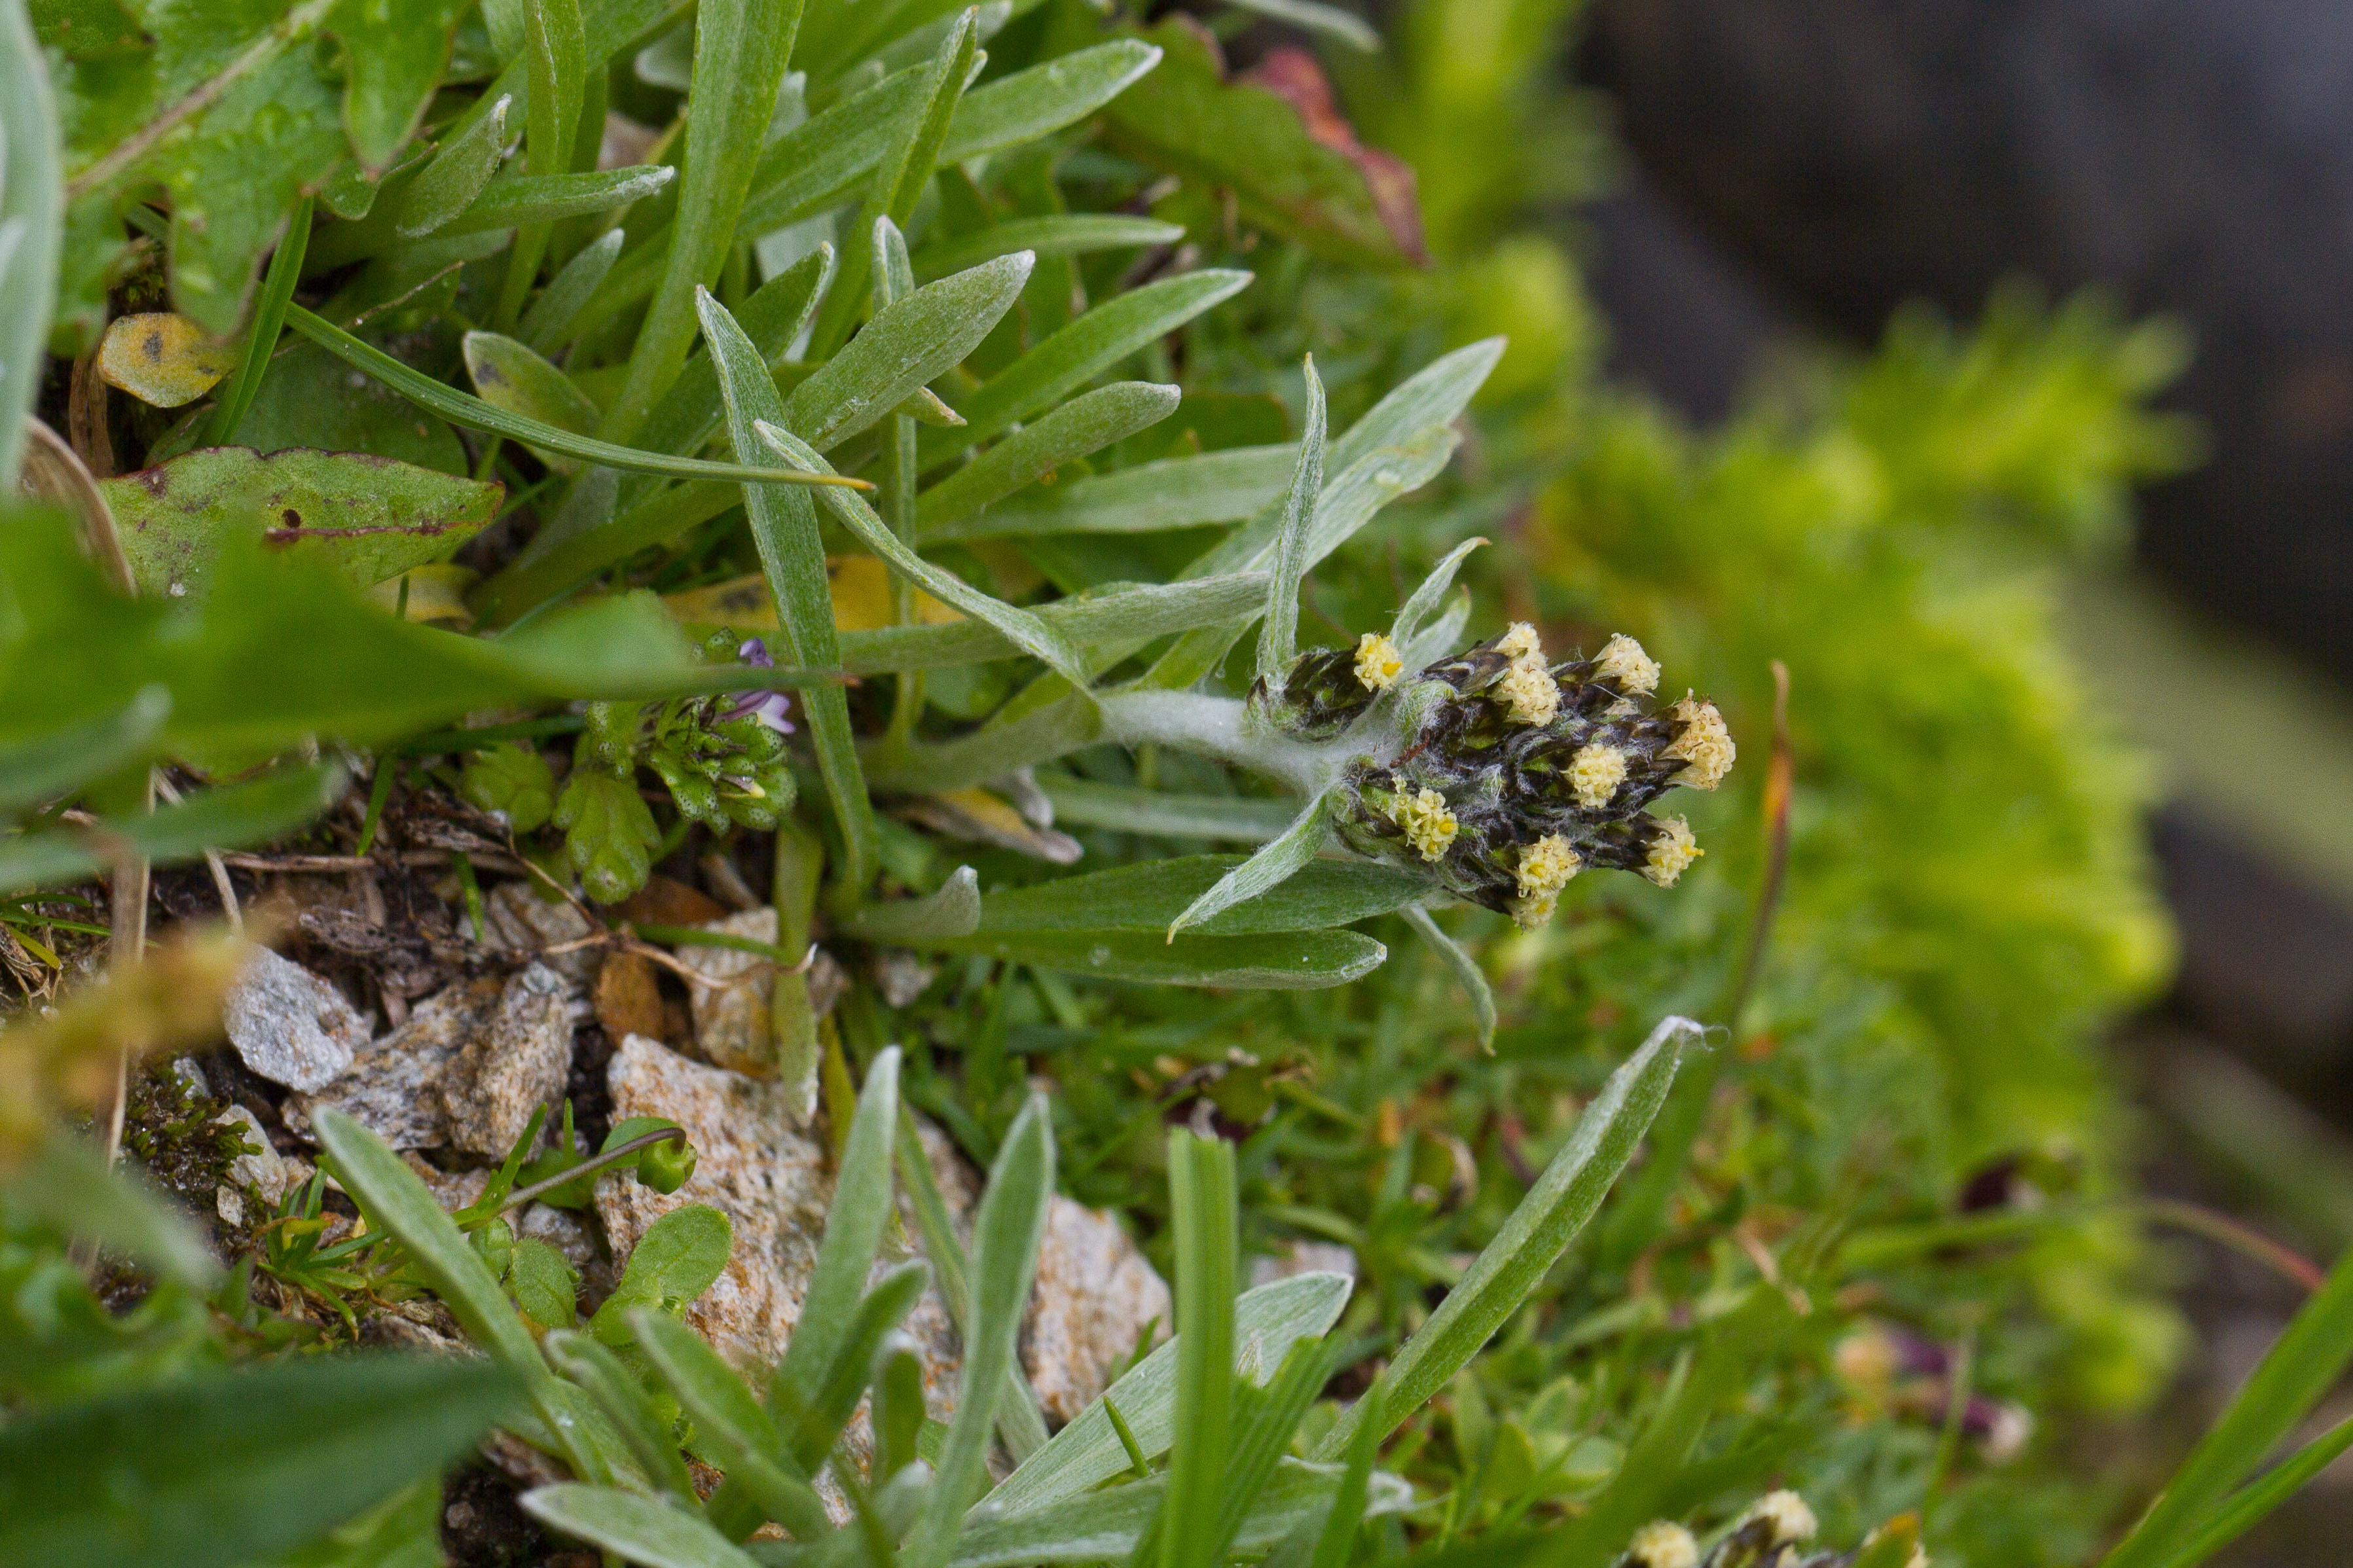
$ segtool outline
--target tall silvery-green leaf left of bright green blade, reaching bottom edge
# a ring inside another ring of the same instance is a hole
[[[972,1218],[972,1331],[955,1392],[955,1418],[941,1443],[932,1488],[901,1561],[936,1568],[955,1547],[974,1493],[986,1486],[995,1406],[1012,1378],[1014,1342],[1038,1274],[1047,1201],[1054,1197],[1054,1126],[1045,1098],[1031,1095],[1005,1131],[988,1187]]]

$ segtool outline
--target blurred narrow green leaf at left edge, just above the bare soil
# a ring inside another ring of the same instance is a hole
[[[155,865],[200,860],[207,849],[266,844],[304,827],[344,795],[344,766],[318,762],[188,795],[176,806],[0,839],[0,896],[80,882],[139,856]]]

